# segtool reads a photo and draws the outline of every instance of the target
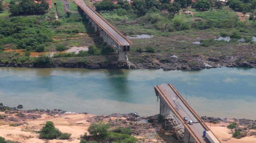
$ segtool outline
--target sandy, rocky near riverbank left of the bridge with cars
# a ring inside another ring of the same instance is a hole
[[[111,115],[92,115],[88,113],[71,113],[62,110],[16,110],[10,109],[0,112],[0,137],[6,140],[17,142],[73,142],[78,143],[81,135],[88,132],[92,123],[104,122],[116,127],[131,127],[132,136],[136,137],[139,142],[179,142],[175,139],[173,133],[166,133],[161,128],[163,123],[147,123],[147,117],[136,117],[134,114],[111,114]],[[157,122],[157,118],[154,122]],[[71,133],[68,140],[43,140],[39,139],[39,131],[47,121],[52,121],[56,128],[61,132]],[[156,130],[157,129],[157,130]]]

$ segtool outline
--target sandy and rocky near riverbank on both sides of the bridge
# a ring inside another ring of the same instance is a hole
[[[7,106],[0,107],[0,137],[7,140],[18,142],[80,142],[80,136],[88,132],[92,123],[104,122],[109,123],[111,128],[131,127],[132,136],[136,137],[139,142],[180,142],[183,140],[182,124],[177,124],[172,116],[149,116],[137,117],[135,114],[111,114],[111,115],[93,115],[86,112],[71,113],[62,110],[16,110]],[[8,109],[8,110],[5,110]],[[256,138],[256,121],[246,119],[227,119],[221,120],[214,117],[202,117],[206,125],[216,134],[223,142],[254,142]],[[151,119],[150,123],[148,120]],[[71,133],[68,140],[42,140],[39,139],[39,131],[47,121],[52,121],[56,128],[62,132]],[[166,122],[166,125],[165,125]],[[234,130],[242,129],[246,135],[241,139],[232,138],[233,129],[227,126],[236,122]],[[211,124],[210,124],[211,123]]]

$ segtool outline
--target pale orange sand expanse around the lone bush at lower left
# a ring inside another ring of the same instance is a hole
[[[3,112],[0,114],[3,114]],[[80,140],[79,136],[87,132],[91,123],[86,122],[88,117],[92,117],[92,114],[63,114],[50,116],[47,114],[42,114],[41,118],[36,120],[26,121],[28,124],[22,126],[10,126],[10,123],[1,122],[0,123],[0,136],[7,140],[13,140],[18,142],[26,143],[43,143],[46,140],[38,139],[39,134],[33,131],[40,130],[46,121],[52,121],[56,128],[62,132],[72,133],[71,139],[69,140],[48,140],[49,143],[56,142],[71,142],[78,143]]]

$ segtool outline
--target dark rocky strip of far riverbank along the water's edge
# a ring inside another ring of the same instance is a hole
[[[129,62],[117,62],[117,55],[87,57],[27,57],[2,53],[0,67],[41,67],[41,68],[87,68],[87,69],[160,69],[201,70],[215,67],[256,67],[256,60],[248,60],[244,55],[206,57],[203,55],[157,55],[156,53],[130,52]],[[20,60],[18,60],[20,59]]]

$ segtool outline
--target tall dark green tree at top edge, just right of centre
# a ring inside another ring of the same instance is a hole
[[[132,5],[134,6],[135,12],[138,16],[143,16],[147,13],[147,7],[143,0],[134,0],[132,2]]]

